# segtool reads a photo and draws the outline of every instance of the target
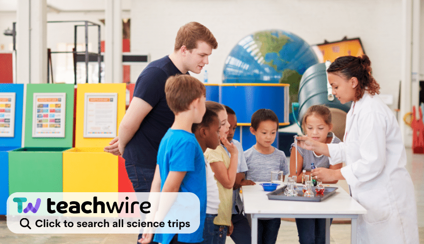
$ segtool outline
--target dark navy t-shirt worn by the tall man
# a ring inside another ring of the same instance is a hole
[[[174,123],[174,113],[165,97],[168,77],[181,74],[168,56],[151,62],[141,72],[134,88],[134,97],[141,98],[153,109],[147,114],[133,138],[125,147],[123,157],[129,164],[156,168],[159,144]]]

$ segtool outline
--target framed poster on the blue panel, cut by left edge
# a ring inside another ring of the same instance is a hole
[[[16,93],[0,93],[0,137],[14,136]]]

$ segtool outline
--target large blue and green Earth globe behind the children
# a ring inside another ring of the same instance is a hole
[[[317,63],[311,46],[299,36],[277,29],[258,31],[231,50],[222,82],[290,84],[290,101],[297,102],[303,73]]]

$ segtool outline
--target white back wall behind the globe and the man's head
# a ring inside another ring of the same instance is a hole
[[[218,41],[206,70],[210,83],[221,83],[226,56],[240,39],[255,31],[282,29],[309,44],[322,43],[324,39],[337,41],[344,36],[360,37],[381,93],[394,96],[395,104],[391,107],[395,109],[401,78],[401,3],[401,0],[133,0],[131,51],[150,53],[152,60],[161,58],[173,51],[179,27],[198,21]],[[140,71],[132,70],[132,82]],[[196,77],[203,80],[202,74]]]

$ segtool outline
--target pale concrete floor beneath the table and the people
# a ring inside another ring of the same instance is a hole
[[[413,154],[407,148],[407,169],[411,174],[415,186],[415,196],[418,209],[418,227],[420,244],[424,244],[424,154]],[[339,184],[347,190],[345,181]],[[333,224],[331,226],[331,244],[350,243],[350,224]],[[6,222],[0,220],[0,244],[136,244],[135,234],[109,234],[109,235],[23,235],[14,234],[7,229]],[[233,244],[227,238],[227,244]],[[290,221],[281,221],[278,232],[277,244],[298,243],[296,224]]]

